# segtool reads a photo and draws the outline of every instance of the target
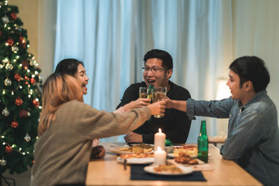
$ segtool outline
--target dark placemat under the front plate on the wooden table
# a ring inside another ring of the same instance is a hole
[[[130,166],[130,180],[174,180],[174,181],[206,181],[201,171],[194,171],[181,176],[163,176],[153,173],[146,173],[144,171],[145,165],[131,165]]]

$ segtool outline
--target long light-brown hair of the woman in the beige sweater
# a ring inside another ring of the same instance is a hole
[[[70,75],[54,73],[43,84],[42,113],[38,125],[38,134],[42,135],[55,121],[55,112],[63,103],[71,100],[83,102],[82,88],[78,80]]]

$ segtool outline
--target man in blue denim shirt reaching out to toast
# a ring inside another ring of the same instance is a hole
[[[279,185],[279,132],[276,105],[266,93],[269,72],[256,56],[229,65],[232,96],[218,101],[167,100],[167,107],[195,116],[229,118],[227,140],[220,153],[234,160],[264,185]]]

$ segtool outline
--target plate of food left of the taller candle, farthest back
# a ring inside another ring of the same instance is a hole
[[[112,153],[116,153],[119,155],[122,154],[146,154],[153,153],[153,146],[149,144],[137,144],[135,146],[119,146],[110,148]]]

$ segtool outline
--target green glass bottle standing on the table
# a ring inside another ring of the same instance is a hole
[[[209,139],[206,135],[205,121],[202,121],[199,137],[197,138],[197,158],[206,163],[209,160]]]

